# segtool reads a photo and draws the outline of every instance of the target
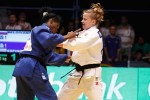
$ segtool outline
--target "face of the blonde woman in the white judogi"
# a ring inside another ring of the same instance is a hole
[[[83,13],[83,18],[81,22],[82,28],[85,30],[96,25],[96,20],[91,18],[91,13]]]

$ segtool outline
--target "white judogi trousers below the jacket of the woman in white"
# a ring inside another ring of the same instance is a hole
[[[77,100],[82,92],[88,100],[102,100],[102,84],[98,77],[83,77],[78,84],[80,77],[69,77],[62,87],[58,100]]]

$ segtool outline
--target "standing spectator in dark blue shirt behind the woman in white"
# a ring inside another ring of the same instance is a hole
[[[116,35],[117,27],[111,25],[109,27],[110,35],[106,36],[104,39],[104,52],[106,55],[106,60],[113,66],[119,61],[121,39]]]

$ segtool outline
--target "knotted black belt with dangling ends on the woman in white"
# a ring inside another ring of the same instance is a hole
[[[82,71],[82,76],[79,79],[78,84],[80,84],[80,81],[84,75],[84,70],[85,69],[90,69],[90,68],[97,68],[100,67],[100,64],[88,64],[88,65],[84,65],[84,66],[80,66],[77,63],[72,62],[72,65],[75,67],[74,69],[76,69],[76,71]],[[69,71],[68,73],[66,73],[64,76],[62,76],[61,78],[65,77],[66,75],[68,75],[69,73],[71,73],[74,69],[72,69],[71,71]]]

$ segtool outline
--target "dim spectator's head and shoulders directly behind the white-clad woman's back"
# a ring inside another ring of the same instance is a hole
[[[104,25],[100,27],[100,32],[102,33],[104,38],[109,35],[109,25],[110,20],[106,19],[104,20]]]

